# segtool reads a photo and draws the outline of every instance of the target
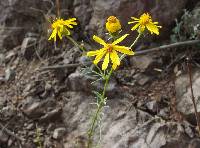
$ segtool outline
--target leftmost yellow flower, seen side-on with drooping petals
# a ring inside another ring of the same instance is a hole
[[[77,25],[75,21],[76,18],[71,18],[68,20],[63,20],[63,19],[55,20],[51,25],[53,31],[48,40],[54,39],[54,41],[56,41],[57,35],[62,40],[63,35],[70,35],[71,33],[68,28],[73,28],[73,25]]]

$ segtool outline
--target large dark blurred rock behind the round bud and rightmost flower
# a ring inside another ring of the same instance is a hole
[[[123,30],[125,32],[130,32],[131,26],[127,24],[127,22],[130,21],[130,17],[138,17],[148,9],[148,12],[153,15],[153,21],[158,21],[163,26],[163,37],[166,37],[166,34],[169,35],[170,25],[174,22],[174,19],[177,18],[182,9],[186,7],[187,2],[189,2],[189,0],[168,0],[167,2],[158,2],[156,0],[149,2],[130,0],[92,0],[88,6],[88,8],[92,7],[93,10],[88,30],[92,30],[91,34],[94,30],[95,32],[97,31],[103,34],[105,19],[114,14],[120,18],[122,24],[124,25]],[[195,2],[197,2],[197,0]],[[173,6],[176,6],[176,8]],[[82,10],[84,11],[85,9]],[[86,12],[83,13],[87,14]],[[79,11],[79,15],[80,14],[81,13]],[[88,15],[88,17],[90,17],[90,15]],[[82,20],[82,18],[82,16],[79,17],[80,20]]]

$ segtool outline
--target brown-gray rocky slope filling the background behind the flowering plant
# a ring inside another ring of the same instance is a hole
[[[140,41],[136,50],[199,39],[198,0],[60,1],[64,18],[78,18],[73,36],[88,49],[95,47],[93,34],[103,36],[109,15],[125,32],[130,16],[143,12],[163,26],[160,36]],[[0,148],[86,146],[95,109],[91,91],[101,85],[82,74],[87,59],[78,48],[68,40],[57,48],[47,41],[55,10],[51,0],[0,1]],[[198,50],[182,46],[126,59],[107,91],[100,147],[199,148],[186,66],[190,54],[199,111]]]

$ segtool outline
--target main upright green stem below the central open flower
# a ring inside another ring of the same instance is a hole
[[[106,76],[106,79],[105,79],[106,81],[105,81],[105,84],[104,84],[101,100],[100,100],[98,108],[97,108],[97,110],[96,110],[96,112],[95,112],[95,114],[92,118],[91,128],[89,129],[89,132],[88,132],[88,145],[87,145],[88,148],[90,148],[92,146],[92,137],[93,137],[94,130],[95,130],[95,127],[96,127],[96,123],[98,121],[100,112],[105,105],[105,93],[106,93],[106,89],[108,87],[108,83],[109,83],[110,77],[112,75],[112,72],[113,72],[113,69],[111,69],[109,74]]]

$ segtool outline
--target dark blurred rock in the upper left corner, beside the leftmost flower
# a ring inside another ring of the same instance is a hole
[[[26,32],[38,30],[37,25],[44,16],[39,15],[38,11],[30,9],[30,7],[41,9],[44,8],[43,4],[40,0],[2,0],[0,2],[0,24],[3,24],[0,32],[2,37],[0,48],[12,49],[21,44]],[[23,11],[19,12],[20,9]]]

